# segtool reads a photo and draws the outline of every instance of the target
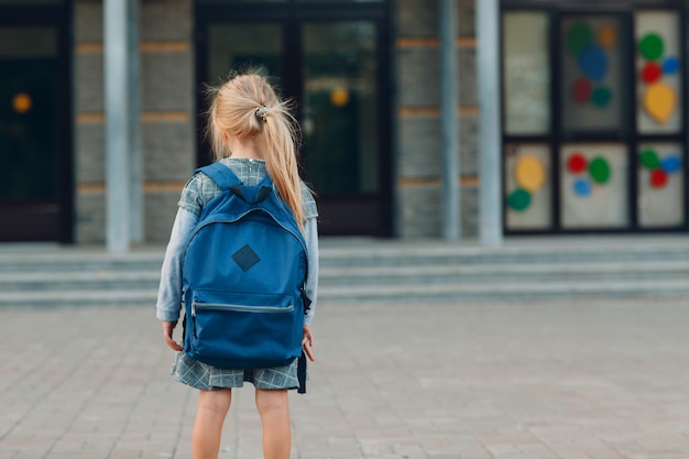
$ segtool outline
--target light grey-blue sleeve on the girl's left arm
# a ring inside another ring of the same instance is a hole
[[[156,317],[165,321],[177,321],[182,309],[182,258],[184,248],[198,222],[198,217],[186,208],[177,209],[175,223],[163,267],[161,269],[161,284],[157,292]]]

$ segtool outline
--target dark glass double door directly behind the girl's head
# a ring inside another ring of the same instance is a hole
[[[297,105],[302,175],[317,195],[320,232],[390,236],[383,21],[367,18],[368,10],[338,19],[331,8],[319,14],[311,6],[300,14],[304,8],[200,9],[197,81],[203,87],[248,66],[275,77]],[[199,99],[199,111],[205,107]],[[210,161],[207,145],[199,143],[198,153],[199,163]]]

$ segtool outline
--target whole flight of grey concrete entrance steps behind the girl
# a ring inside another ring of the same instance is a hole
[[[0,245],[0,306],[150,305],[163,248]],[[320,303],[687,297],[689,236],[507,239],[500,248],[324,238]]]

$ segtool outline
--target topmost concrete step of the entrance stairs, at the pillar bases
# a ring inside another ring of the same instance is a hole
[[[164,248],[134,249],[114,255],[102,248],[47,245],[22,250],[0,244],[0,273],[66,271],[160,271]],[[510,240],[500,248],[437,241],[328,240],[321,242],[322,267],[544,264],[689,260],[689,236],[638,238],[557,238]]]

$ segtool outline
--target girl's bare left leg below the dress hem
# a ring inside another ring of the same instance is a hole
[[[194,459],[217,459],[220,450],[222,423],[230,409],[232,390],[200,391],[194,423]]]

